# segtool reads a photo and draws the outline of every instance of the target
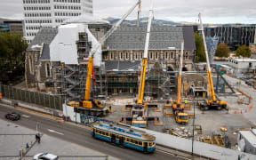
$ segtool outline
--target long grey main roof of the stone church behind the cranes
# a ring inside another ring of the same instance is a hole
[[[108,37],[108,50],[144,50],[146,27],[122,26]],[[185,50],[196,50],[192,27],[154,27],[150,31],[149,50],[180,50],[184,39]]]

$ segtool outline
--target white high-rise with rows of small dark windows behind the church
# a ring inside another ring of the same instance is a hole
[[[52,28],[81,14],[92,15],[92,0],[23,0],[24,36],[31,43],[40,28]]]

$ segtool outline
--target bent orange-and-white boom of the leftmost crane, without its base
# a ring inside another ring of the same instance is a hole
[[[139,5],[138,15],[140,15],[140,4],[141,4],[141,0],[138,0],[136,4],[132,5],[130,10],[126,12],[124,16],[120,20],[118,20],[116,24],[114,24],[113,27],[110,28],[104,36],[100,38],[99,45],[97,45],[95,49],[92,49],[91,52],[89,52],[84,100],[90,100],[90,97],[91,97],[90,94],[91,94],[91,85],[92,85],[91,80],[92,80],[93,56],[95,52],[97,52],[100,49],[101,45],[104,44],[104,42],[108,39],[108,37],[111,36],[116,31],[116,29],[120,26],[120,24],[131,14],[131,12],[136,8],[137,5]]]

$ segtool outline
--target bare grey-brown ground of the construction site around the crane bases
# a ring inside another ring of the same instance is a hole
[[[239,108],[244,108],[244,106],[240,105],[237,106],[236,96],[228,96],[224,97],[225,100],[227,100],[229,109],[222,109],[222,110],[208,110],[208,111],[202,111],[199,109],[198,106],[195,105],[195,124],[199,124],[202,126],[202,134],[197,134],[195,136],[196,140],[199,140],[200,137],[207,137],[207,136],[212,136],[212,133],[220,133],[224,134],[224,132],[220,131],[220,127],[225,127],[228,129],[228,132],[225,132],[228,135],[228,139],[231,141],[232,148],[236,148],[236,137],[237,133],[236,131],[239,129],[244,129],[244,128],[250,128],[254,127],[252,123],[247,121],[243,114],[239,114]],[[121,118],[123,116],[129,116],[130,112],[122,112],[122,108],[124,108],[125,104],[129,104],[134,102],[132,98],[130,99],[125,99],[122,97],[118,98],[111,98],[111,100],[108,101],[108,104],[111,104],[112,106],[112,114],[108,115],[106,118],[108,120],[112,121],[121,121]],[[191,109],[188,109],[188,114],[193,114],[194,113],[194,106],[193,106],[193,101],[188,101],[190,102]],[[196,102],[195,102],[196,104]],[[163,103],[158,103],[158,108],[163,109],[164,104]],[[236,111],[236,114],[235,114]],[[152,112],[152,113],[151,113]],[[162,126],[156,126],[153,121],[148,121],[148,129],[149,130],[154,130],[158,132],[166,132],[166,129],[180,129],[180,127],[184,127],[186,130],[188,130],[189,133],[192,134],[193,131],[193,117],[189,117],[188,124],[177,124],[175,123],[174,117],[173,116],[164,116],[163,112],[161,113],[153,113],[154,111],[151,110],[149,111],[149,115],[156,115],[158,116],[160,121],[164,122],[164,125]],[[129,124],[129,122],[127,123]]]

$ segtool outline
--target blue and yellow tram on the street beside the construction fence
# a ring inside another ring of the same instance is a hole
[[[145,132],[135,131],[129,127],[121,127],[116,124],[93,123],[92,136],[127,148],[134,148],[142,152],[150,153],[156,149],[156,137]]]

